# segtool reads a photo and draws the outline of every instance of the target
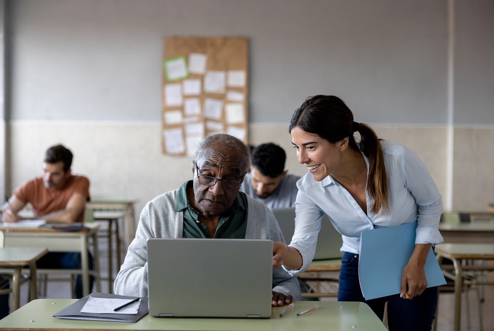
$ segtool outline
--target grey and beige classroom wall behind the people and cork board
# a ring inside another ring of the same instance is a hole
[[[357,121],[417,153],[445,208],[494,202],[492,0],[0,1],[7,194],[40,175],[58,142],[92,194],[137,198],[139,211],[176,188],[191,160],[161,153],[163,37],[240,36],[249,142],[284,146],[291,172],[306,171],[288,150],[293,110],[336,94]]]

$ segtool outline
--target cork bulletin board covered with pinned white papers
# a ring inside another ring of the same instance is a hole
[[[192,156],[209,133],[247,142],[247,39],[166,37],[162,148]]]

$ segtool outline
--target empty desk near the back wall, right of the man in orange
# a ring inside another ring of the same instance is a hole
[[[134,204],[138,200],[135,199],[120,199],[120,198],[104,198],[104,199],[93,199],[86,203],[86,208],[91,208],[93,210],[116,210],[122,209],[125,212],[124,216],[124,238],[125,238],[125,249],[128,248],[130,242],[135,237],[135,219],[134,219]]]

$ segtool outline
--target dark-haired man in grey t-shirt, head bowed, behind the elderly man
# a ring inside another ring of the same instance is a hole
[[[273,143],[260,144],[252,150],[252,165],[240,191],[273,208],[295,207],[299,176],[285,169],[287,154]],[[289,239],[289,238],[288,238]]]

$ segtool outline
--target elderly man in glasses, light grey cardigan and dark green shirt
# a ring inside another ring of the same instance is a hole
[[[192,162],[194,179],[154,198],[142,210],[135,239],[115,279],[115,293],[148,295],[148,238],[284,241],[271,211],[239,192],[249,164],[250,152],[241,140],[227,134],[203,138]],[[273,269],[272,306],[299,298],[297,279],[283,268]]]

